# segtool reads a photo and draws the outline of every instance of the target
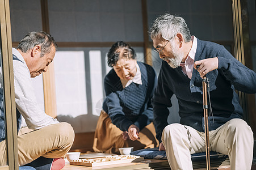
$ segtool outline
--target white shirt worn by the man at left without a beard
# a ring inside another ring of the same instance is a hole
[[[48,116],[40,109],[33,91],[30,70],[24,58],[15,48],[12,48],[12,54],[22,61],[13,61],[15,103],[28,128],[40,129],[47,125],[57,124],[58,121],[56,119]]]

